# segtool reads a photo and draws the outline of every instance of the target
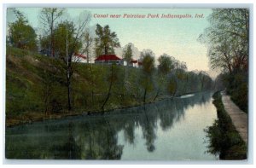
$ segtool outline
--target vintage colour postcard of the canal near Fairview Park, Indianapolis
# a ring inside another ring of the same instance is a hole
[[[6,159],[244,160],[249,8],[8,8]]]

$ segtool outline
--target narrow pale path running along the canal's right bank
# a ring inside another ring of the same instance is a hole
[[[244,142],[248,144],[248,116],[247,113],[241,111],[236,104],[230,100],[230,96],[222,93],[222,101],[224,108],[227,113],[230,114],[233,125],[235,125],[236,130],[239,132],[241,138]]]

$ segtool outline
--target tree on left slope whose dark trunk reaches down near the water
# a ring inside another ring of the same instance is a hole
[[[85,15],[84,15],[85,14]],[[71,79],[74,72],[73,55],[82,47],[82,37],[84,30],[90,21],[90,14],[81,13],[79,22],[74,24],[71,21],[64,21],[59,24],[55,30],[55,37],[58,43],[55,43],[55,49],[60,55],[63,64],[61,65],[67,75],[67,107],[68,111],[72,110],[71,104]]]

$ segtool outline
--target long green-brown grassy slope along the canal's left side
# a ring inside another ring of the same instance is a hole
[[[149,78],[142,68],[72,64],[72,110],[68,111],[64,61],[7,46],[6,125],[59,119],[81,113],[101,113],[103,104],[104,111],[134,107],[164,96],[209,90],[212,84],[201,74],[180,69],[163,77],[155,68]],[[203,79],[205,84],[201,84]]]

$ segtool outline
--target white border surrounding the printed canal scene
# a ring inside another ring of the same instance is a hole
[[[253,64],[255,63],[255,59],[253,59],[253,23],[255,21],[255,17],[253,14],[253,6],[254,6],[254,2],[249,0],[249,1],[238,1],[238,3],[234,3],[232,1],[221,1],[221,0],[215,0],[214,3],[205,3],[202,1],[194,1],[193,3],[190,3],[190,1],[174,1],[173,3],[166,3],[166,1],[162,1],[159,0],[157,2],[148,2],[151,4],[143,4],[143,2],[141,0],[130,0],[129,3],[125,2],[123,4],[121,4],[121,2],[119,1],[111,1],[111,3],[105,3],[105,1],[98,1],[95,0],[93,1],[93,3],[90,4],[82,4],[82,2],[78,1],[78,0],[73,0],[73,3],[64,3],[64,1],[57,1],[57,0],[45,0],[44,3],[41,2],[33,2],[32,0],[25,0],[22,1],[22,3],[20,3],[19,1],[16,2],[15,0],[3,0],[3,3],[8,3],[8,4],[3,4],[2,3],[2,14],[3,17],[1,17],[1,28],[2,28],[2,32],[1,32],[1,36],[0,38],[2,38],[3,40],[0,40],[0,45],[1,45],[1,50],[3,51],[3,55],[1,57],[1,61],[0,65],[1,65],[1,88],[3,90],[3,94],[0,94],[0,98],[1,98],[1,105],[0,107],[2,107],[3,109],[3,115],[1,116],[1,120],[3,121],[3,128],[1,128],[1,131],[3,129],[3,132],[1,134],[1,137],[3,136],[4,138],[4,114],[5,114],[5,18],[6,18],[6,8],[7,7],[45,7],[45,6],[64,6],[64,7],[89,7],[89,8],[120,8],[120,7],[125,7],[125,8],[250,8],[250,57],[249,57],[249,140],[248,140],[248,159],[247,161],[243,160],[243,161],[192,161],[192,162],[187,162],[187,161],[154,161],[154,162],[145,162],[145,161],[103,161],[103,160],[94,160],[94,161],[90,161],[90,160],[9,160],[9,159],[5,159],[4,158],[4,139],[3,139],[3,143],[1,144],[1,149],[3,151],[3,153],[0,155],[0,157],[3,159],[3,164],[53,164],[53,165],[59,165],[59,164],[100,164],[100,165],[110,165],[110,164],[115,164],[115,165],[119,165],[119,164],[183,164],[183,165],[203,165],[203,164],[224,164],[224,165],[228,165],[228,164],[235,164],[235,165],[240,165],[240,164],[253,164],[253,116],[255,117],[255,115],[253,115],[253,94],[254,94],[254,90],[253,90],[253,83],[254,83],[254,71],[253,71]],[[131,4],[131,3],[133,4]],[[30,4],[28,4],[30,3]],[[48,4],[47,4],[48,3]],[[74,4],[76,3],[76,4]],[[96,3],[100,3],[100,4],[96,4]],[[118,3],[118,4],[117,4]],[[200,3],[200,4],[198,4]],[[202,4],[203,3],[203,4]],[[241,4],[242,3],[242,4]],[[252,3],[252,4],[245,4],[245,3]],[[3,36],[4,35],[4,36]],[[255,119],[254,119],[255,120]],[[37,165],[38,166],[38,165]],[[149,165],[147,165],[149,166]],[[207,165],[208,166],[208,165]],[[61,166],[62,167],[62,166]],[[107,166],[108,167],[108,166]],[[198,167],[198,166],[196,166]],[[241,167],[241,165],[240,165]]]

